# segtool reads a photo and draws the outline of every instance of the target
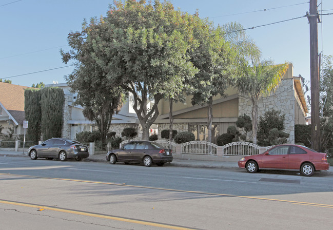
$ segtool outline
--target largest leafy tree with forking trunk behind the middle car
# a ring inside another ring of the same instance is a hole
[[[95,59],[93,66],[81,65],[80,60],[75,71],[101,69],[99,77],[107,88],[121,86],[131,93],[144,140],[159,116],[159,101],[166,94],[181,92],[183,79],[195,73],[187,55],[192,37],[186,25],[191,18],[168,1],[115,1],[106,17],[84,23],[82,32],[70,34],[71,47],[82,46],[82,55],[91,52]],[[101,31],[100,35],[90,40],[95,31]],[[63,60],[70,59],[71,52],[63,53]],[[154,102],[151,107],[149,101]]]

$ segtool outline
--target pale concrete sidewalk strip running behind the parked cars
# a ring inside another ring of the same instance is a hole
[[[25,151],[25,155],[22,151],[5,151],[0,150],[0,159],[1,157],[28,157],[27,150]],[[86,161],[93,161],[93,162],[105,162],[108,163],[105,159],[105,154],[95,154],[89,156]],[[168,165],[168,163],[166,164]],[[240,169],[238,167],[237,162],[229,162],[229,161],[194,161],[194,160],[183,160],[183,159],[173,159],[170,163],[170,166],[175,167],[192,167],[192,168],[223,168],[223,169],[230,169],[230,170],[245,170]],[[329,170],[322,171],[324,175],[333,175],[333,167],[329,167]]]

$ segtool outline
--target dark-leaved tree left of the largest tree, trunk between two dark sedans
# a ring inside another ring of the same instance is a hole
[[[74,71],[66,76],[71,92],[77,93],[74,105],[81,105],[85,118],[95,122],[105,147],[113,114],[120,111],[126,94],[107,79],[108,70],[101,65],[108,58],[107,41],[103,41],[107,33],[104,21],[92,19],[91,25],[94,26],[84,26],[82,32],[69,33],[68,43],[72,50],[61,50],[61,54],[65,63],[76,61]]]

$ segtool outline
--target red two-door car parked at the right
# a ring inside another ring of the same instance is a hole
[[[250,173],[263,168],[299,170],[306,177],[329,169],[326,154],[302,145],[277,145],[263,154],[241,158],[238,166]]]

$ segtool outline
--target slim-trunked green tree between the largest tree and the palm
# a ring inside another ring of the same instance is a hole
[[[234,52],[222,36],[220,26],[213,27],[208,20],[194,18],[194,37],[199,46],[190,52],[191,61],[199,72],[192,79],[192,105],[207,105],[208,141],[212,142],[213,97],[220,94],[225,97],[228,81],[232,77]]]

